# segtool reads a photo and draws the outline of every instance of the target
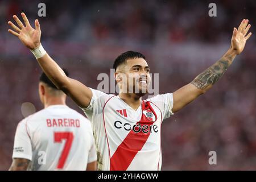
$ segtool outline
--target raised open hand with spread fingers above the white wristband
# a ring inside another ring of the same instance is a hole
[[[13,28],[13,30],[9,29],[8,31],[18,36],[19,40],[29,49],[33,50],[40,46],[40,38],[41,38],[41,30],[38,19],[35,20],[35,29],[31,27],[30,22],[28,22],[27,16],[22,13],[22,18],[25,26],[19,20],[19,18],[14,15],[13,18],[15,22],[18,24],[18,27],[11,21],[8,24]]]

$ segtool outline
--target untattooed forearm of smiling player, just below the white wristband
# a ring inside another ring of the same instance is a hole
[[[47,53],[37,60],[40,67],[43,69],[43,72],[46,73],[47,77],[57,88],[62,89],[67,86],[69,78]]]

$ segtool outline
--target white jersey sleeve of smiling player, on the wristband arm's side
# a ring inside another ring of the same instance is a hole
[[[84,111],[86,117],[92,121],[93,115],[102,112],[104,104],[110,98],[110,96],[109,94],[101,92],[100,90],[94,90],[92,88],[89,89],[92,90],[92,99],[90,100],[90,104],[86,108],[80,108]]]

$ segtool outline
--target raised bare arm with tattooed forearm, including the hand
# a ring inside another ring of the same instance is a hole
[[[247,34],[250,28],[248,22],[249,20],[243,19],[238,30],[234,28],[231,46],[220,60],[198,75],[191,83],[174,92],[172,112],[175,113],[201,94],[207,92],[224,75],[228,67],[233,63],[236,55],[243,51],[246,40],[251,36],[251,32]]]

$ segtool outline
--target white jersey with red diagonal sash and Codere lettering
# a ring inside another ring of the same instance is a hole
[[[172,93],[159,94],[132,109],[119,96],[91,89],[84,110],[92,122],[98,170],[160,170],[161,124],[172,115]]]

